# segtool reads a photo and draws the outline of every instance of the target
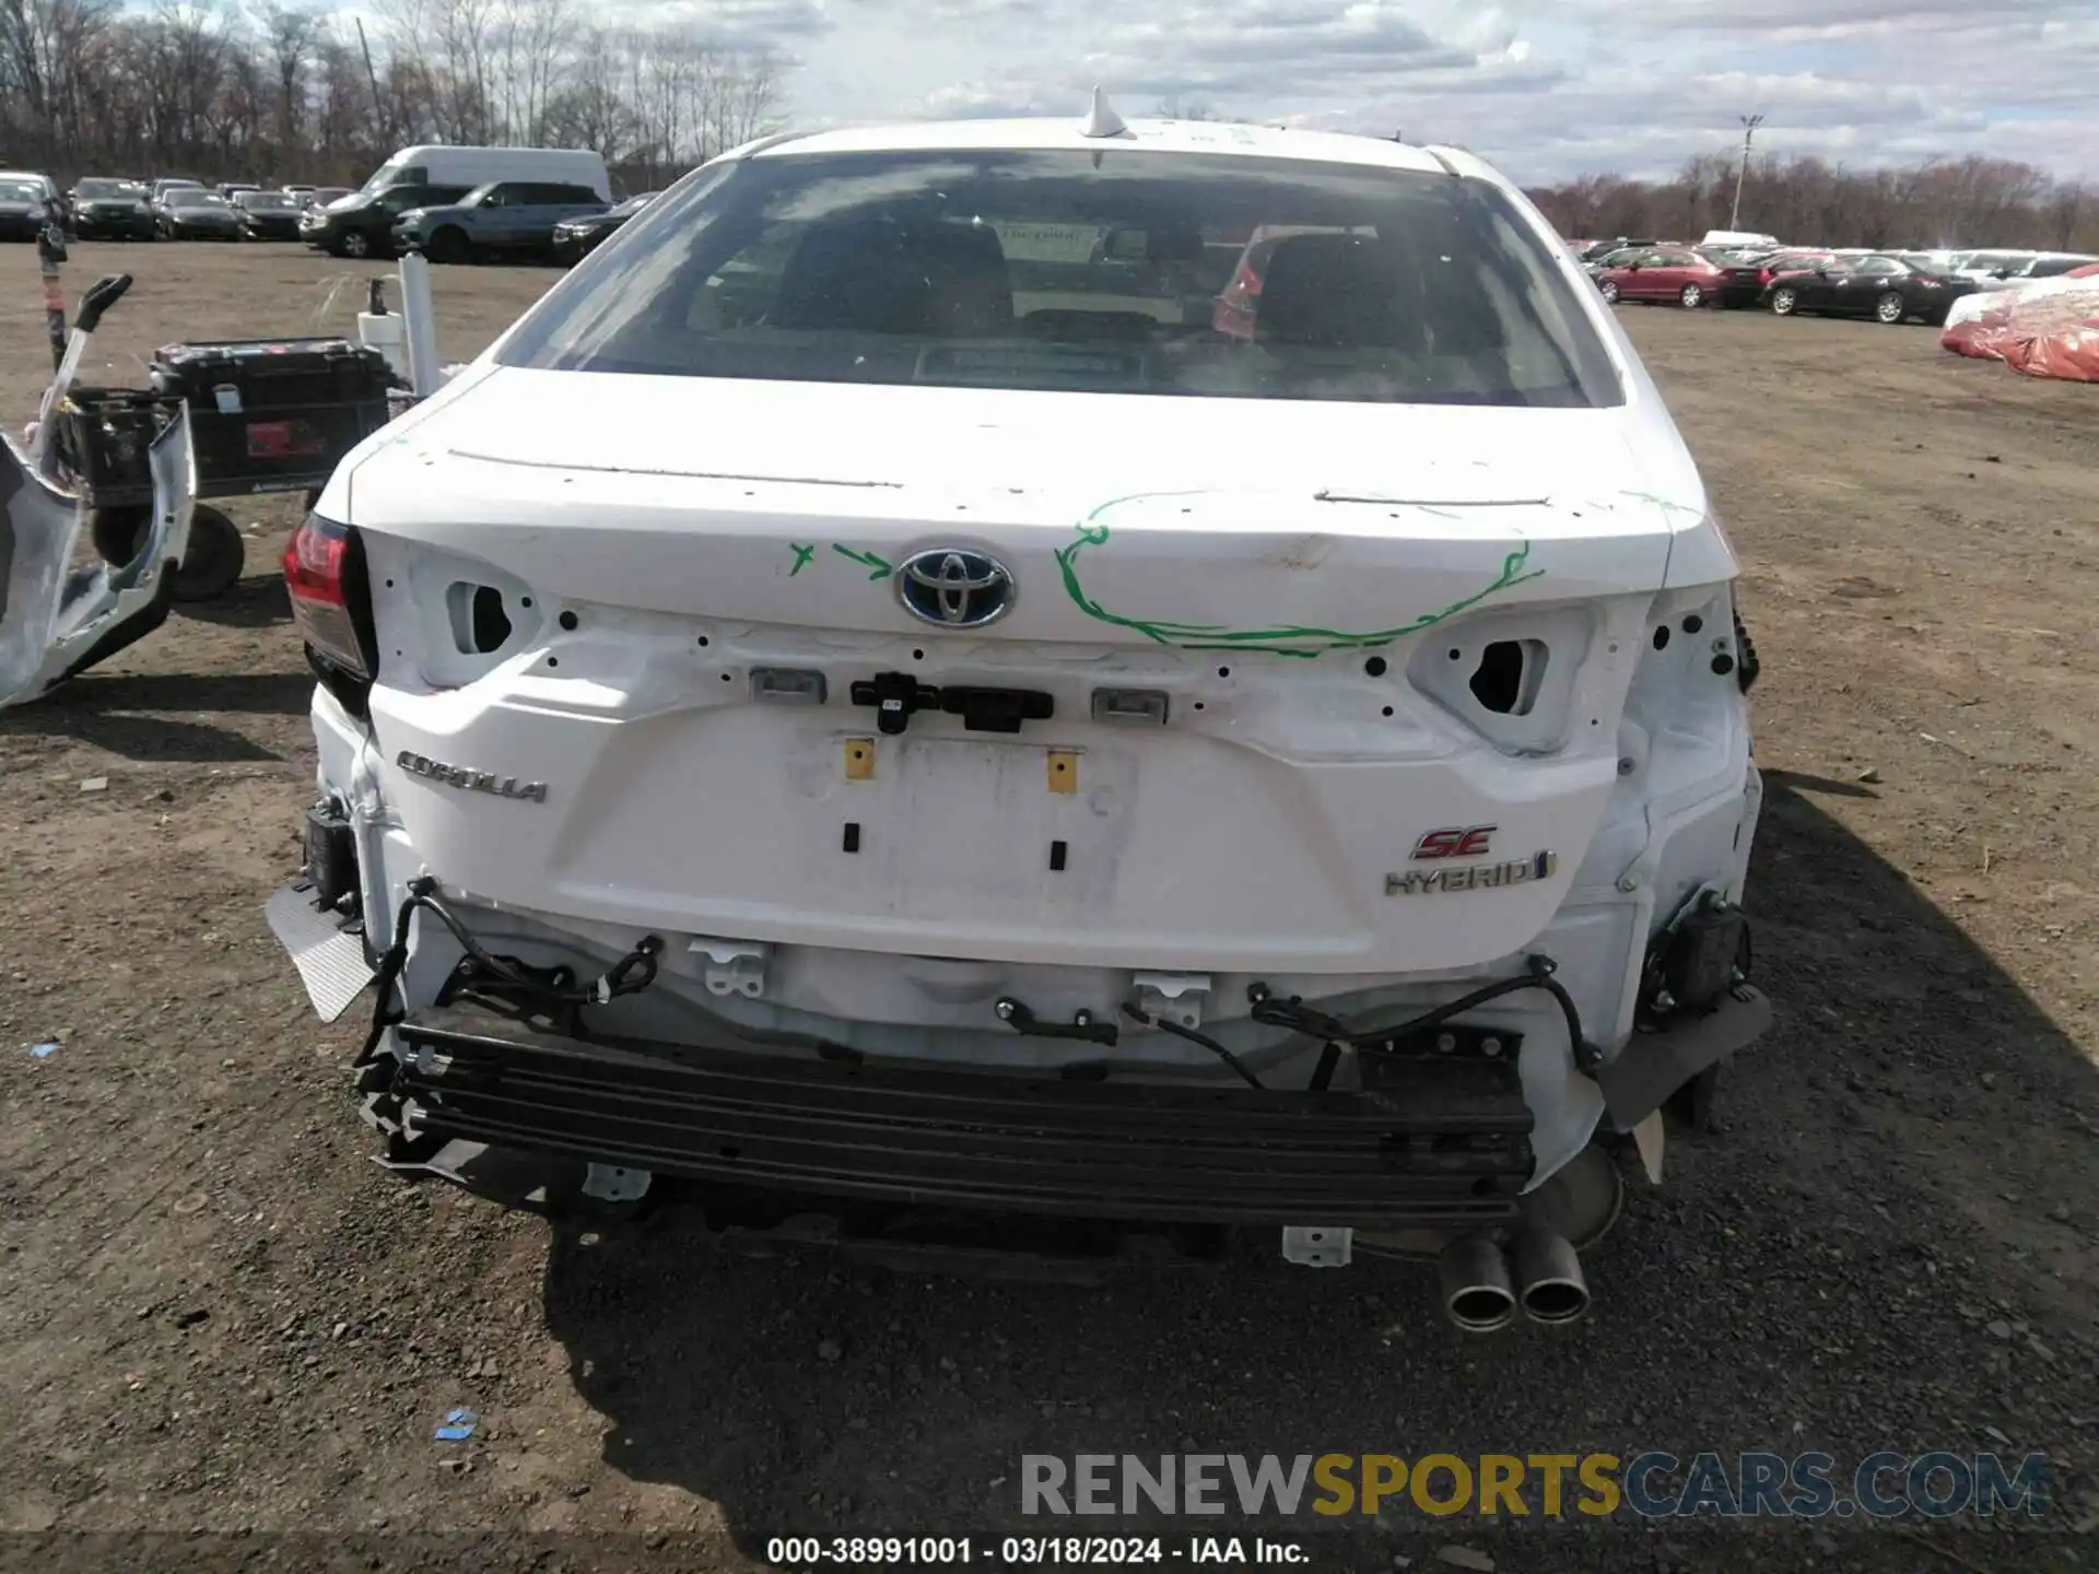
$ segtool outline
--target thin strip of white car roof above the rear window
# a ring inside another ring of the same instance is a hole
[[[1142,147],[1154,153],[1228,153],[1238,157],[1318,159],[1421,174],[1471,174],[1499,183],[1482,159],[1453,147],[1413,147],[1381,136],[1350,136],[1220,120],[1129,120],[1115,136],[1087,136],[1079,115],[1029,120],[934,120],[886,126],[842,126],[766,139],[743,157],[817,153],[1001,153]],[[733,153],[735,155],[735,153]]]

